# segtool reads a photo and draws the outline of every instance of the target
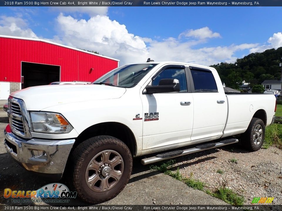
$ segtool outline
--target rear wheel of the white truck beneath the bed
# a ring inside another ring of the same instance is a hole
[[[252,118],[248,129],[241,136],[242,145],[254,152],[261,148],[265,136],[265,126],[261,119]]]

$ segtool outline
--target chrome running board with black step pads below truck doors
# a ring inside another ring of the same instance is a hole
[[[207,144],[198,145],[198,146],[190,148],[190,149],[175,150],[175,151],[172,151],[172,152],[165,152],[165,153],[153,156],[153,157],[144,158],[144,159],[141,160],[141,163],[143,165],[147,165],[147,164],[151,164],[151,163],[155,163],[155,162],[179,157],[179,156],[182,156],[182,155],[192,154],[194,152],[200,152],[200,151],[207,150],[207,149],[222,147],[222,146],[225,146],[225,145],[228,145],[228,144],[234,144],[234,143],[237,143],[237,142],[239,142],[238,139],[226,139],[226,140],[222,140],[222,141],[216,142],[216,143],[207,143]]]

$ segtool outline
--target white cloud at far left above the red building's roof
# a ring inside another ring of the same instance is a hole
[[[0,34],[17,37],[38,38],[28,28],[26,21],[19,17],[0,16]]]

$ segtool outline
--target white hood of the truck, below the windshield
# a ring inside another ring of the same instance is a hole
[[[27,110],[42,110],[66,103],[120,98],[126,89],[96,84],[63,84],[32,86],[13,92],[22,99]]]

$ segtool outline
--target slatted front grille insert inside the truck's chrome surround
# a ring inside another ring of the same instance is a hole
[[[26,135],[24,128],[24,120],[21,111],[20,104],[17,101],[11,100],[9,102],[9,112],[10,112],[10,126],[12,131],[24,137]]]

